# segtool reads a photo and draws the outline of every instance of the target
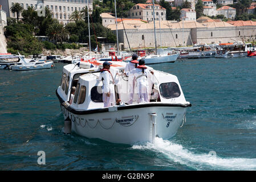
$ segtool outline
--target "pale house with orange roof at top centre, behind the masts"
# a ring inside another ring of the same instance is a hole
[[[153,21],[153,4],[137,4],[129,10],[129,18]],[[155,5],[155,19],[166,20],[166,9]]]

